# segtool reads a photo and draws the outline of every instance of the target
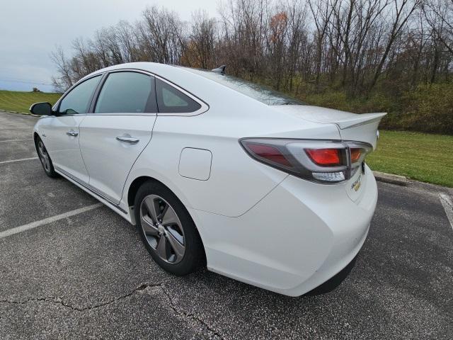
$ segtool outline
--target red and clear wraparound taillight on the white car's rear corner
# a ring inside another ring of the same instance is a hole
[[[320,183],[350,179],[372,151],[367,143],[338,140],[244,138],[239,142],[257,161]]]

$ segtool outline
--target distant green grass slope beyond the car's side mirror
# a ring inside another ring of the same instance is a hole
[[[0,110],[29,113],[31,104],[48,101],[53,105],[60,96],[45,92],[0,91]]]

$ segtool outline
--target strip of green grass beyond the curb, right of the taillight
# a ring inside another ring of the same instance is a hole
[[[366,161],[371,169],[453,188],[453,136],[379,132],[377,150]]]

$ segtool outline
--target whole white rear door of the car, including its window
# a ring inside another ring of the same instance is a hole
[[[155,79],[143,72],[113,71],[96,97],[93,113],[80,125],[80,149],[91,190],[117,204],[132,165],[151,140]]]

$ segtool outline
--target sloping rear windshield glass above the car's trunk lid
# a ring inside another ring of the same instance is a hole
[[[202,77],[216,81],[219,84],[234,89],[241,94],[245,94],[261,103],[267,105],[306,105],[302,101],[289,97],[281,92],[274,91],[268,86],[252,83],[251,81],[242,80],[226,74],[208,71],[205,69],[192,69],[184,67],[190,72],[199,74]]]

